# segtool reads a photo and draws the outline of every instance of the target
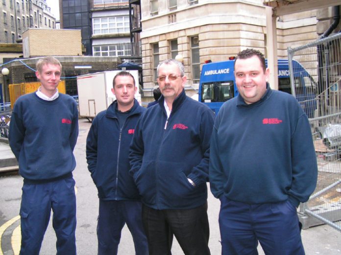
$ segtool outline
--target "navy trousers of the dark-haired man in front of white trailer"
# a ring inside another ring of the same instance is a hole
[[[117,254],[121,231],[125,223],[133,237],[135,254],[148,255],[147,238],[142,225],[142,203],[103,200],[99,200],[98,255]]]

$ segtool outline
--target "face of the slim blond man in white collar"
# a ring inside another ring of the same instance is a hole
[[[57,92],[57,86],[60,81],[61,68],[59,65],[45,64],[41,71],[36,71],[36,76],[40,80],[41,93],[51,97]]]

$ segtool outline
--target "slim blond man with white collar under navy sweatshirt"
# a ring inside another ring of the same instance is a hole
[[[62,66],[53,57],[38,60],[41,86],[15,102],[9,145],[24,177],[20,208],[21,255],[38,255],[53,210],[57,255],[75,255],[76,198],[72,171],[78,136],[74,99],[58,93]]]

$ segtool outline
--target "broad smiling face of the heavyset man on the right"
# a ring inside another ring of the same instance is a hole
[[[252,104],[261,99],[267,91],[269,70],[263,70],[258,56],[237,59],[235,63],[235,78],[238,92],[246,104]]]

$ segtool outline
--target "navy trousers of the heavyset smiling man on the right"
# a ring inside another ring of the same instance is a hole
[[[296,208],[288,201],[244,204],[220,198],[222,255],[304,255]]]

